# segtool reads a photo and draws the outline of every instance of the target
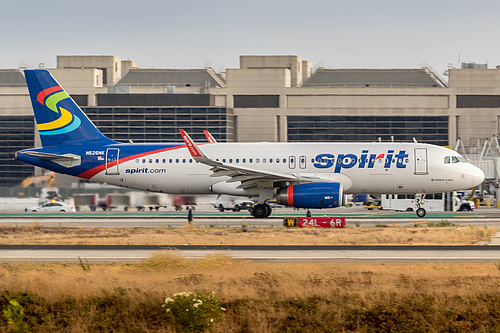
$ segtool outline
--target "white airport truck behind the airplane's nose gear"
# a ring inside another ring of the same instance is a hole
[[[427,211],[472,211],[473,201],[460,199],[456,192],[433,194],[382,194],[381,209],[412,212],[421,205]]]

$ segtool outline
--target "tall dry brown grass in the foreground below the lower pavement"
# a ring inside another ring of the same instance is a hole
[[[0,290],[36,295],[25,305],[33,316],[51,311],[32,331],[173,332],[164,298],[195,290],[215,292],[228,310],[213,332],[500,330],[493,264],[267,264],[159,252],[90,267],[1,264]]]

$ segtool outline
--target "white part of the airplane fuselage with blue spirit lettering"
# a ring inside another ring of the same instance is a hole
[[[428,144],[214,143],[200,148],[228,165],[340,182],[345,193],[448,192],[484,179],[455,151]],[[119,159],[127,156],[126,144],[119,149]],[[239,182],[211,174],[210,166],[194,161],[184,146],[120,161],[92,180],[163,193],[258,195],[258,189],[241,190]]]

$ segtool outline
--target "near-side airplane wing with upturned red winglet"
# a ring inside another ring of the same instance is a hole
[[[255,186],[272,188],[274,187],[275,182],[297,182],[300,180],[298,177],[288,173],[254,169],[214,161],[208,158],[200,150],[200,148],[194,143],[193,139],[191,139],[186,131],[184,131],[183,129],[179,129],[179,132],[181,132],[182,138],[184,139],[184,142],[186,143],[186,146],[193,159],[199,163],[203,163],[212,167],[210,169],[213,172],[211,177],[230,177],[231,179],[227,180],[227,182],[229,183],[241,182],[241,185],[238,186],[238,188],[247,189]]]

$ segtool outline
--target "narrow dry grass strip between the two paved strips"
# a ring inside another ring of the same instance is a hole
[[[468,245],[489,241],[499,230],[489,227],[286,228],[66,228],[39,224],[0,227],[2,244],[123,245]]]

